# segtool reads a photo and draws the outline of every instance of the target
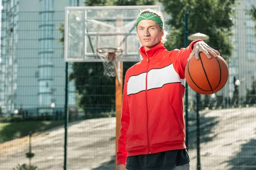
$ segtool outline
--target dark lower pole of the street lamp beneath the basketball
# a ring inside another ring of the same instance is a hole
[[[200,164],[200,94],[196,93],[196,148],[197,148],[197,170],[201,170]]]

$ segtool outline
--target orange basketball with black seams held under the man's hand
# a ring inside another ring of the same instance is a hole
[[[212,54],[211,54],[212,55]],[[214,94],[227,82],[227,63],[222,57],[209,59],[203,52],[193,56],[186,65],[185,78],[189,87],[199,94]]]

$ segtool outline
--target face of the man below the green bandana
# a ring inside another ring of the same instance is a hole
[[[163,31],[153,20],[141,20],[137,25],[137,35],[145,51],[153,48],[161,41]]]

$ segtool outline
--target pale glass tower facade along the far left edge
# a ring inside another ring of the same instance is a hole
[[[3,113],[13,113],[17,104],[18,2],[2,1],[0,105]]]

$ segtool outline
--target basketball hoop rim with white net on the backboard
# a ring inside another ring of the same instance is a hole
[[[104,74],[109,77],[115,77],[117,75],[116,64],[119,57],[122,55],[121,48],[98,48],[97,54],[102,60],[104,67]]]

